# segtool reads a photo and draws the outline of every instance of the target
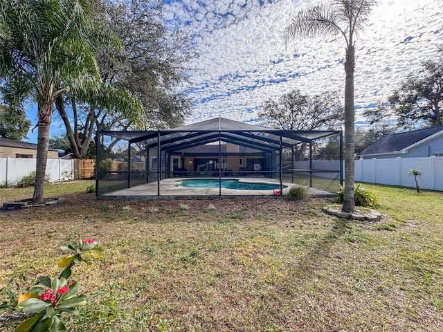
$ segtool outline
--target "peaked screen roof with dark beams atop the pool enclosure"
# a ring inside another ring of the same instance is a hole
[[[156,131],[100,131],[101,134],[128,140],[130,143],[140,142],[149,147],[161,145],[161,149],[174,153],[201,147],[218,142],[230,142],[257,151],[269,152],[278,150],[280,140],[282,147],[292,147],[302,142],[311,142],[318,138],[340,133],[340,131],[292,131],[258,127],[229,120],[213,118],[174,129]]]

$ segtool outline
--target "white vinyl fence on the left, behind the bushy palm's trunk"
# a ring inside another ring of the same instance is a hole
[[[15,185],[30,172],[35,172],[36,163],[37,159],[0,158],[0,184]],[[46,174],[51,178],[51,182],[73,180],[74,160],[48,159]]]

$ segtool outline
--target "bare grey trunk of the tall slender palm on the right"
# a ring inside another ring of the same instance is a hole
[[[345,195],[343,197],[343,212],[354,211],[354,46],[349,44],[346,48],[345,62]]]

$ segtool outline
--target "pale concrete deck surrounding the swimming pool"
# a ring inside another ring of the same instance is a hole
[[[115,192],[109,192],[107,194],[103,194],[102,196],[98,196],[98,198],[109,198],[109,199],[157,199],[157,198],[219,198],[226,197],[232,198],[235,196],[251,196],[251,197],[265,197],[265,196],[273,196],[272,190],[235,190],[235,189],[225,189],[221,188],[221,196],[219,188],[194,188],[194,187],[182,187],[180,185],[181,180],[190,180],[190,179],[199,179],[202,178],[165,178],[160,181],[160,196],[158,195],[158,183],[145,183],[143,185],[137,185],[131,188],[126,188],[123,190],[116,190]],[[208,179],[218,179],[218,178],[208,178]],[[225,179],[225,178],[224,178]],[[241,182],[248,183],[269,183],[273,185],[280,185],[280,181],[278,179],[273,178],[248,178],[248,177],[238,177],[234,176],[229,179],[238,179]],[[289,188],[294,185],[298,185],[296,183],[287,183],[283,182],[283,185],[287,185],[286,188],[283,188],[283,194],[287,194]],[[336,193],[327,192],[325,190],[321,190],[318,188],[309,188],[309,194],[315,197],[335,197]]]

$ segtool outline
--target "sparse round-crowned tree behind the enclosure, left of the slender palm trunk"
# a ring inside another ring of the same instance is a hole
[[[303,95],[300,90],[285,93],[278,100],[266,100],[259,113],[266,127],[284,130],[332,129],[343,122],[343,106],[338,93]],[[295,147],[294,157],[300,160],[306,143]]]

